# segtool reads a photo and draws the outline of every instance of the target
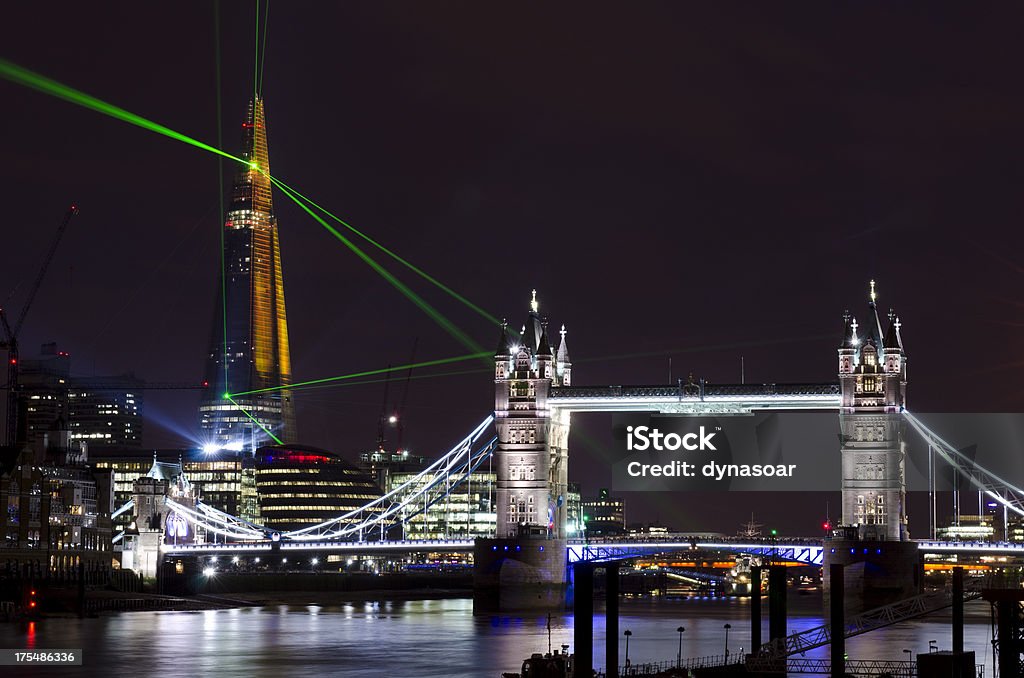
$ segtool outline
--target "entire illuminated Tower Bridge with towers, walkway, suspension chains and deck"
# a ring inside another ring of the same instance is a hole
[[[548,320],[541,315],[535,293],[521,330],[513,332],[503,325],[495,351],[494,415],[402,488],[324,523],[274,533],[205,506],[182,495],[180,486],[168,486],[163,506],[158,506],[147,485],[145,501],[137,500],[133,509],[136,522],[162,532],[160,549],[168,556],[472,551],[477,600],[503,608],[560,605],[566,566],[575,562],[692,548],[770,555],[806,564],[854,565],[848,567],[852,575],[848,574],[847,583],[859,587],[864,604],[873,606],[883,595],[905,597],[916,592],[922,551],[1024,552],[1024,547],[1017,546],[910,540],[904,483],[904,444],[910,431],[923,436],[944,461],[1008,510],[1024,515],[1024,491],[973,465],[906,410],[907,358],[901,324],[890,313],[884,330],[876,301],[872,283],[867,321],[861,325],[850,313],[844,314],[838,381],[712,384],[690,379],[674,385],[581,386],[573,383],[566,330],[562,326],[553,346]],[[573,413],[746,415],[764,411],[839,415],[843,514],[841,529],[827,544],[811,540],[744,544],[703,538],[588,544],[567,539],[565,495]],[[497,475],[493,539],[394,539],[392,529],[442,501],[484,461],[493,464]],[[173,536],[167,532],[169,521]],[[182,528],[185,523],[191,532]],[[197,542],[197,534],[215,535],[222,543]],[[862,563],[871,566],[860,568],[858,575],[857,566]]]

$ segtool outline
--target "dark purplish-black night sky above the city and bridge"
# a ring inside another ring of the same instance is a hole
[[[253,90],[253,9],[221,3],[230,153]],[[272,2],[271,171],[515,327],[537,288],[567,326],[577,385],[665,383],[670,356],[676,376],[716,382],[738,381],[740,356],[749,382],[831,381],[842,312],[863,320],[873,278],[903,320],[911,409],[1016,412],[1022,18]],[[2,23],[0,56],[217,144],[212,3],[16,3]],[[13,291],[13,311],[67,206],[81,208],[23,356],[56,341],[75,374],[201,380],[216,157],[2,80],[0,102],[0,300]],[[275,208],[296,381],[407,363],[417,338],[417,359],[466,352],[280,193]],[[380,260],[496,344],[494,326]],[[383,397],[383,384],[297,394],[302,440],[354,459]],[[486,370],[412,381],[406,442],[446,450],[493,397]],[[193,444],[198,400],[148,392],[146,444]],[[573,430],[570,479],[593,494],[610,479],[610,418],[577,415]],[[809,534],[825,498],[630,495],[628,518],[733,532],[753,509]]]

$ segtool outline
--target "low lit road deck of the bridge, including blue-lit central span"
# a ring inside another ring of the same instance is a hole
[[[941,542],[922,540],[918,542],[924,553],[956,555],[1024,555],[1024,544],[1007,542]],[[498,547],[495,547],[498,548]],[[757,556],[770,556],[781,560],[820,565],[824,547],[820,540],[780,539],[752,540],[729,539],[707,535],[667,535],[656,540],[570,540],[566,544],[566,556],[570,563],[580,561],[604,562],[651,556],[658,553],[679,551],[731,551]],[[470,553],[473,540],[396,540],[343,542],[324,541],[281,541],[272,542],[231,542],[226,544],[165,544],[161,551],[165,555],[239,555],[246,553],[309,552],[318,553]]]

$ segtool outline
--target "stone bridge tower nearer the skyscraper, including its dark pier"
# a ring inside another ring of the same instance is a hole
[[[557,606],[565,579],[569,413],[552,416],[552,386],[568,385],[565,328],[552,349],[537,291],[518,333],[503,324],[495,351],[496,539],[478,540],[474,587],[483,609]]]

